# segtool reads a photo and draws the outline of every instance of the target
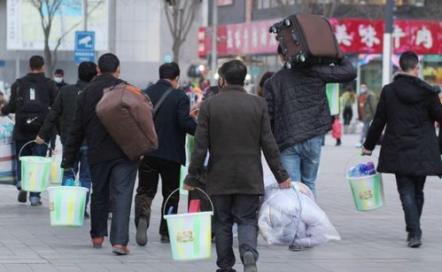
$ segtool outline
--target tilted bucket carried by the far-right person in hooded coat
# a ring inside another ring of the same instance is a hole
[[[352,189],[354,206],[360,212],[376,210],[384,206],[384,185],[382,175],[349,177],[347,181]]]

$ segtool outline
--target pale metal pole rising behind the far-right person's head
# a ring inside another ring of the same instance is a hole
[[[394,0],[387,0],[385,4],[385,32],[384,52],[382,63],[382,86],[391,82],[392,79],[392,32],[393,32],[393,9]]]

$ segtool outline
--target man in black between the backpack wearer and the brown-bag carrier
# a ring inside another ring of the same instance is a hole
[[[69,130],[71,129],[72,122],[74,120],[74,114],[76,109],[76,102],[78,93],[89,84],[94,77],[97,76],[97,65],[93,62],[81,62],[78,66],[78,78],[76,84],[67,85],[60,89],[54,104],[50,107],[50,112],[44,120],[43,127],[40,128],[38,136],[35,138],[35,143],[43,144],[43,139],[48,139],[53,128],[58,125],[58,120],[61,119],[61,144],[65,145],[69,137]],[[90,190],[90,173],[88,164],[88,146],[84,143],[78,154],[78,158],[74,163],[75,175],[80,172],[81,186]],[[63,175],[62,185],[66,184],[67,179],[75,179],[74,173],[68,170]],[[86,208],[89,203],[89,191],[86,196]],[[89,218],[87,210],[84,211],[84,217]]]

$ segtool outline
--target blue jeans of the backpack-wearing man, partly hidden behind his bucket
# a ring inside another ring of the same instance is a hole
[[[46,152],[48,152],[48,146],[46,144],[27,144],[27,142],[15,142],[15,152],[17,152],[17,189],[21,190],[21,161],[19,160],[19,156],[46,156]],[[21,148],[24,146],[23,150],[20,152]],[[39,192],[29,192],[29,200],[30,201],[38,201],[40,200]]]

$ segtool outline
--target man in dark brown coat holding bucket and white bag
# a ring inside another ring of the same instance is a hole
[[[232,226],[238,225],[239,252],[244,271],[256,271],[257,211],[264,193],[261,150],[281,188],[291,180],[280,159],[270,129],[266,101],[248,95],[243,86],[247,68],[239,60],[221,66],[219,94],[201,104],[198,128],[184,188],[197,186],[207,150],[206,190],[215,213],[217,271],[235,271]]]

